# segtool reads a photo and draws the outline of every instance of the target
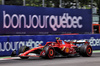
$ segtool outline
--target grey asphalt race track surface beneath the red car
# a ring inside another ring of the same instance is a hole
[[[100,66],[100,53],[93,51],[91,57],[56,57],[54,59],[42,59],[31,57],[29,59],[0,60],[0,66]],[[2,58],[0,58],[2,59]]]

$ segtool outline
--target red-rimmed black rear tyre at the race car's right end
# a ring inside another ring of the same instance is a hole
[[[92,55],[92,47],[90,45],[82,45],[80,47],[80,55],[90,57]]]

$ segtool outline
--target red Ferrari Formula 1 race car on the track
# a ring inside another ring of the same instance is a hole
[[[77,46],[81,44],[81,46]],[[39,47],[30,49],[27,46],[22,46],[19,49],[19,57],[28,59],[29,57],[42,57],[53,59],[56,56],[68,56],[78,54],[80,56],[90,57],[92,55],[92,47],[87,41],[70,41],[66,42],[57,39],[55,42],[47,42],[44,46],[39,44]],[[15,55],[15,51],[11,56]]]

